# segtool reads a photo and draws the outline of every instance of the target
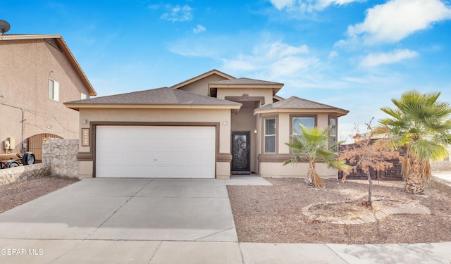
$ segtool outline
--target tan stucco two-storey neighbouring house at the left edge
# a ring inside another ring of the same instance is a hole
[[[1,153],[39,160],[42,140],[78,139],[78,111],[63,102],[95,95],[61,35],[0,35]]]

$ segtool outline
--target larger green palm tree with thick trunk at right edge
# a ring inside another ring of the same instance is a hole
[[[379,120],[396,146],[404,146],[402,158],[404,190],[412,194],[424,191],[424,180],[431,177],[430,161],[448,155],[451,142],[451,106],[438,101],[440,92],[421,94],[415,90],[404,92],[400,99],[392,99],[396,108],[381,110],[390,118]]]

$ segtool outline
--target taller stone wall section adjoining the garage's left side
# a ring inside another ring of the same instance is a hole
[[[42,144],[42,163],[50,176],[78,179],[78,139],[49,139]]]

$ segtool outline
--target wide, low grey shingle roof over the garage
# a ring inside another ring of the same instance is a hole
[[[68,108],[228,108],[238,110],[241,103],[162,87],[126,94],[101,96],[64,103]],[[170,107],[169,107],[170,106]]]

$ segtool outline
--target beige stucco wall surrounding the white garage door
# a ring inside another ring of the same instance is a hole
[[[89,158],[79,158],[79,177],[92,177],[94,171],[95,138],[93,131],[97,124],[112,125],[199,125],[202,122],[218,124],[218,144],[216,146],[216,177],[230,177],[230,161],[221,161],[221,156],[230,155],[230,109],[136,109],[136,108],[81,108],[80,120],[86,119],[87,124],[80,122],[80,127],[89,128],[90,146],[82,146],[80,152]],[[127,139],[118,142],[124,144]],[[124,161],[125,162],[125,161]]]

